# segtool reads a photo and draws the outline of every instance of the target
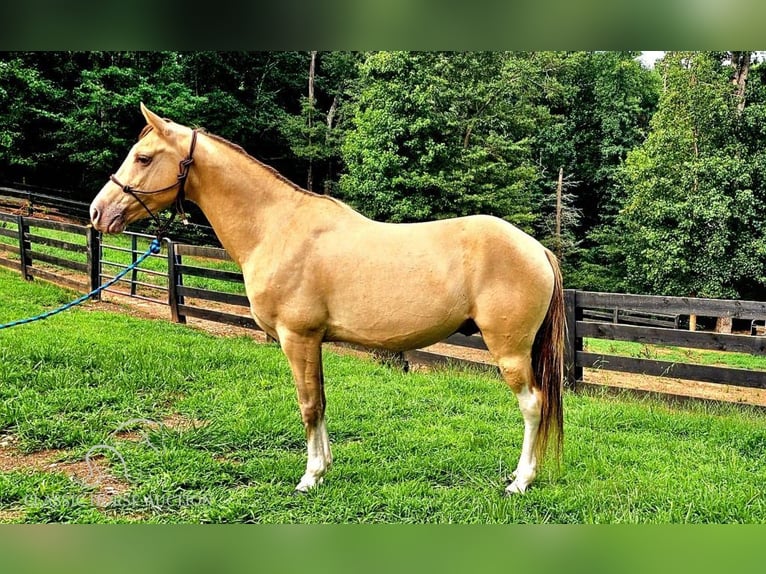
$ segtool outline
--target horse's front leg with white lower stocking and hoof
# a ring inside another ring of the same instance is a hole
[[[324,419],[326,401],[322,373],[322,340],[321,337],[280,333],[279,341],[293,372],[301,417],[306,428],[306,473],[295,490],[307,492],[322,482],[325,472],[332,464],[330,439]]]

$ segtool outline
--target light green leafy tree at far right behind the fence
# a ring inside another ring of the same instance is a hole
[[[663,90],[651,133],[622,171],[628,286],[740,296],[763,282],[766,205],[740,137],[738,86],[713,53],[671,52],[659,69]]]

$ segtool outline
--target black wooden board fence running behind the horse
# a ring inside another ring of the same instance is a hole
[[[64,231],[81,240],[65,241],[46,237],[38,233],[38,229]],[[128,235],[131,236],[131,247],[120,247],[105,242],[98,233],[85,226],[0,213],[0,236],[6,238],[0,241],[0,265],[20,271],[27,279],[37,277],[64,282],[76,289],[90,290],[125,267],[124,263],[108,258],[109,250],[130,252],[134,261],[145,250],[140,243],[148,242],[149,236]],[[77,254],[79,260],[43,253],[36,249],[38,245]],[[187,317],[196,317],[258,329],[249,316],[241,272],[232,270],[231,265],[229,269],[216,266],[216,262],[230,261],[223,249],[168,240],[165,247],[166,254],[155,256],[166,259],[163,269],[139,267],[135,273],[123,279],[129,289],[117,292],[167,304],[171,318],[177,322],[186,322]],[[46,268],[40,267],[40,263],[45,264]],[[73,273],[86,277],[87,281],[73,279]],[[139,279],[140,273],[152,275],[154,281],[142,281]],[[158,284],[158,279],[163,281]],[[153,294],[142,295],[139,293],[141,288],[150,289]],[[766,336],[688,331],[677,327],[680,318],[688,315],[763,321],[766,320],[766,302],[573,290],[567,290],[565,297],[568,323],[566,380],[569,386],[575,387],[583,381],[584,369],[600,369],[766,389],[766,371],[663,361],[640,355],[595,353],[586,350],[583,345],[584,339],[607,339],[764,355]],[[486,351],[480,336],[454,334],[442,343],[455,352],[421,349],[405,353],[405,358],[413,363],[453,363],[496,371],[489,364],[488,356],[467,360],[465,353],[460,352],[460,349]]]

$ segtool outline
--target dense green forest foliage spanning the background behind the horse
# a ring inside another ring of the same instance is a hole
[[[758,298],[766,70],[742,54],[7,52],[0,180],[90,200],[143,101],[376,219],[505,218],[570,287]]]

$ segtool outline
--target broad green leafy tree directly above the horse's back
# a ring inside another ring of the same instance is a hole
[[[533,231],[531,138],[549,121],[547,54],[368,54],[342,146],[340,193],[389,221],[491,213]]]

